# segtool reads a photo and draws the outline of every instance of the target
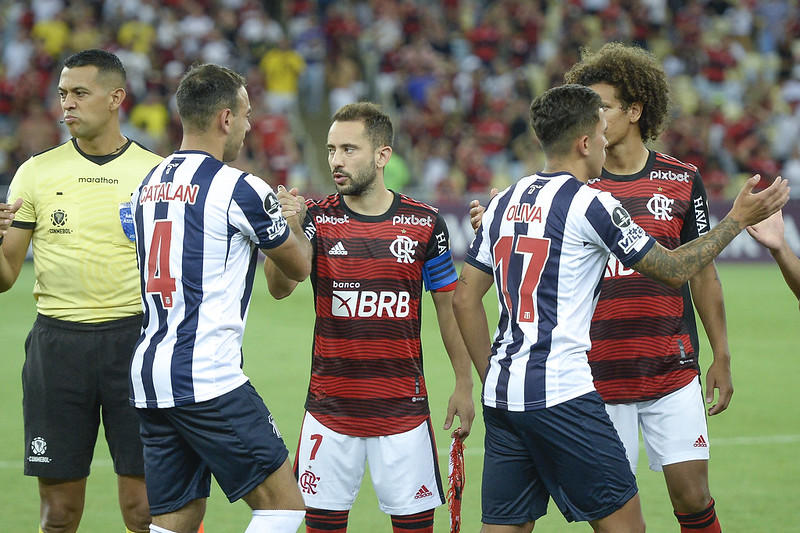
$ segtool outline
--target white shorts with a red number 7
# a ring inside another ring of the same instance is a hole
[[[295,461],[306,507],[349,510],[367,463],[384,513],[416,514],[445,502],[430,418],[405,433],[351,437],[306,413]]]

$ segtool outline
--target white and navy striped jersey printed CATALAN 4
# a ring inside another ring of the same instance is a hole
[[[272,189],[205,152],[180,151],[147,176],[132,204],[145,309],[133,404],[198,403],[242,385],[256,247],[289,236]]]

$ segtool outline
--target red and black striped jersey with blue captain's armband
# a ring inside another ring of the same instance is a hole
[[[308,200],[316,324],[306,409],[328,428],[373,437],[408,431],[430,414],[420,341],[423,280],[457,279],[438,211],[402,194],[364,216],[333,194]]]

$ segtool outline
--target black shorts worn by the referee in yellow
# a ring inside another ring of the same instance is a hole
[[[25,474],[89,475],[102,416],[114,471],[143,475],[130,365],[142,315],[85,324],[38,315],[25,341]]]

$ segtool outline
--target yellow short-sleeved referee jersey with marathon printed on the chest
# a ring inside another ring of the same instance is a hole
[[[88,156],[72,139],[19,167],[8,201],[23,198],[13,226],[33,229],[39,313],[104,322],[142,312],[128,202],[161,159],[135,141]]]

